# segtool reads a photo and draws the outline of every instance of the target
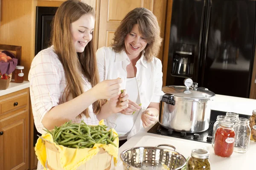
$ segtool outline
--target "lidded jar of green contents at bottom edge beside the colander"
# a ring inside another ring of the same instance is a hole
[[[210,170],[209,152],[204,149],[192,150],[186,170]]]

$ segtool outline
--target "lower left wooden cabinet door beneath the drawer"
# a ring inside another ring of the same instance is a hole
[[[28,110],[0,120],[0,170],[29,169]]]

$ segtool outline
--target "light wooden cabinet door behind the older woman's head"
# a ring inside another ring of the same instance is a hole
[[[153,0],[101,0],[99,11],[98,48],[108,47],[125,15],[137,7],[153,10]]]

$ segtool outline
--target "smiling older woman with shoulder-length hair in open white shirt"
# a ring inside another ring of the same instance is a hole
[[[119,146],[157,121],[163,73],[160,59],[154,56],[161,41],[154,14],[135,8],[116,29],[111,47],[96,52],[100,80],[120,77],[124,80],[122,89],[129,94],[128,108],[108,117],[108,122],[116,124]]]

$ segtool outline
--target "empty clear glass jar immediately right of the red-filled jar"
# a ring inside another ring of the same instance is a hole
[[[239,118],[234,125],[236,133],[234,151],[238,153],[246,153],[250,143],[251,129],[249,119]]]

